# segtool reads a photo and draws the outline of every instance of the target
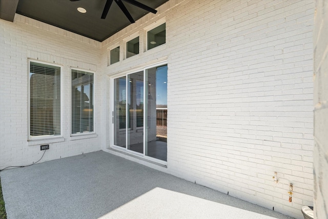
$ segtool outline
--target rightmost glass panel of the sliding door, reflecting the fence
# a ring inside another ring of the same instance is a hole
[[[145,154],[167,161],[168,66],[146,70]]]

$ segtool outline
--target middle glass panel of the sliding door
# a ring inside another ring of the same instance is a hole
[[[144,71],[128,75],[128,149],[144,154]]]

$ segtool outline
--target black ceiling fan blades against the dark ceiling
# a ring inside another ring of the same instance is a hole
[[[76,2],[76,1],[80,1],[80,0],[70,0],[71,2]],[[108,11],[112,5],[114,0],[107,0],[106,1],[106,5],[103,11],[103,14],[101,14],[101,19],[105,19]],[[130,3],[131,5],[137,6],[139,8],[142,8],[146,11],[152,12],[153,14],[156,14],[157,10],[148,7],[147,5],[141,4],[135,0],[123,0],[124,2]],[[131,14],[129,13],[128,9],[125,7],[125,5],[122,3],[122,0],[115,0],[116,4],[118,5],[118,7],[123,11],[123,13],[127,16],[127,18],[129,19],[129,21],[131,23],[135,23],[133,17],[131,16]]]

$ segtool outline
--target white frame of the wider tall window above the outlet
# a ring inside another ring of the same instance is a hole
[[[42,65],[48,66],[55,66],[60,68],[60,135],[48,135],[48,136],[31,136],[31,78],[30,78],[30,68],[31,63],[38,63]],[[63,137],[63,66],[43,61],[38,61],[35,59],[28,59],[28,69],[27,69],[27,77],[28,77],[28,103],[27,103],[27,133],[28,139],[27,141],[34,141],[34,140],[46,140],[51,138],[60,138]]]

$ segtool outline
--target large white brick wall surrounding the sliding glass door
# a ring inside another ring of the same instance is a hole
[[[302,218],[313,205],[313,14],[312,1],[171,0],[102,43],[103,85],[167,58],[165,171]],[[107,66],[108,47],[135,33],[142,44],[162,18],[166,45]]]

